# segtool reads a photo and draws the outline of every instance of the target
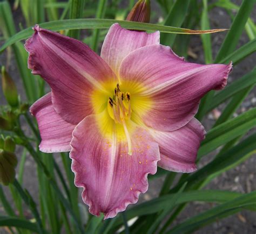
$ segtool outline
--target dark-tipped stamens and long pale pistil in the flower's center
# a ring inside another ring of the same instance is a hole
[[[131,138],[125,123],[126,120],[131,118],[131,95],[129,92],[124,94],[124,92],[120,90],[119,84],[114,88],[113,98],[109,97],[107,111],[115,123],[123,125],[128,145],[128,154],[132,155]]]

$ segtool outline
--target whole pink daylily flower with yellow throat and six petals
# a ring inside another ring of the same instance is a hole
[[[93,215],[111,218],[136,203],[157,165],[196,170],[204,127],[194,115],[222,89],[232,65],[185,62],[159,32],[113,24],[98,56],[82,42],[41,29],[26,41],[28,66],[51,93],[35,102],[43,152],[71,151],[75,185]]]

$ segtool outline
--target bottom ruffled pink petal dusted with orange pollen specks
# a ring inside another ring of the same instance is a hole
[[[148,188],[147,174],[157,171],[158,144],[142,127],[130,122],[132,155],[118,124],[106,115],[87,116],[73,131],[72,171],[75,185],[93,215],[112,218],[127,205],[136,203]],[[100,127],[102,126],[102,127]]]

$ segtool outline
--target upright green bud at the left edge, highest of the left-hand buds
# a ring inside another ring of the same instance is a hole
[[[6,72],[4,66],[2,67],[2,88],[6,101],[11,107],[18,106],[18,92],[11,76]]]

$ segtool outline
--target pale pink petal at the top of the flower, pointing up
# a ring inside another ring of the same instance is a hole
[[[143,46],[159,44],[159,31],[154,33],[137,32],[123,29],[119,24],[113,24],[107,33],[100,56],[118,75],[120,63],[126,55]]]

